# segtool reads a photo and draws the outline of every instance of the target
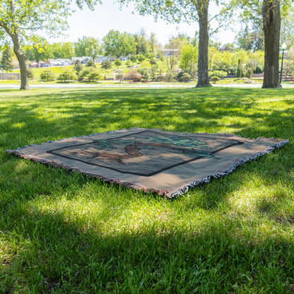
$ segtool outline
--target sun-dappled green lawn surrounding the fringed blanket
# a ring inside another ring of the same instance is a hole
[[[290,139],[173,201],[4,153],[131,127]],[[294,92],[0,90],[0,293],[293,293]]]

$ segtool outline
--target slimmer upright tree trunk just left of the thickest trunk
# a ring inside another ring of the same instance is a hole
[[[209,0],[197,0],[196,8],[199,17],[199,52],[197,88],[211,87],[208,77],[208,3]]]

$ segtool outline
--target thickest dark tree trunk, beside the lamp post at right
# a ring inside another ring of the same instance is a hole
[[[281,10],[279,0],[264,0],[264,83],[262,88],[280,88],[278,59],[280,54]]]

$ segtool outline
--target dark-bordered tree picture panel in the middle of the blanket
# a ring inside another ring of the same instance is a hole
[[[52,149],[47,153],[148,177],[200,158],[218,160],[218,151],[240,144],[243,142],[235,139],[182,137],[157,131],[140,131],[114,139],[96,139],[92,143]]]

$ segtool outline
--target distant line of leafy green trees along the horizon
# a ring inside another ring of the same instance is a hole
[[[288,52],[294,50],[294,8],[290,7],[288,14],[281,22],[281,41],[287,42]],[[194,38],[187,37],[184,34],[179,34],[177,37],[172,37],[164,48],[180,49],[183,44],[197,45],[198,35]],[[208,47],[211,44],[220,48],[220,43],[215,43],[209,40]],[[245,52],[257,52],[264,50],[264,35],[260,19],[251,23],[248,20],[244,24],[244,28],[237,33],[235,43],[230,44],[234,49],[243,49]],[[5,46],[3,49],[5,49]],[[119,31],[110,30],[102,40],[95,37],[83,36],[77,42],[54,42],[49,44],[44,37],[33,36],[30,42],[23,45],[23,51],[30,61],[40,61],[47,59],[71,59],[71,57],[88,56],[96,59],[99,56],[112,56],[119,58],[128,54],[143,54],[148,57],[148,54],[159,54],[161,45],[158,43],[155,33],[150,36],[141,29],[138,33],[119,33]],[[184,51],[189,51],[186,47]],[[193,51],[193,50],[192,50]],[[186,68],[187,64],[182,67]],[[209,67],[211,69],[211,67]]]

